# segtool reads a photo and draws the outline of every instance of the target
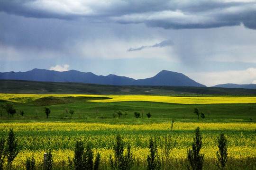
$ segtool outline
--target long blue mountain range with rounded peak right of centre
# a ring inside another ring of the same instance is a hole
[[[163,70],[154,77],[135,80],[125,76],[97,76],[91,72],[84,73],[76,70],[53,71],[46,69],[33,69],[27,72],[0,73],[0,79],[29,80],[41,82],[74,82],[101,85],[167,85],[167,86],[195,86],[205,87],[182,73]]]

